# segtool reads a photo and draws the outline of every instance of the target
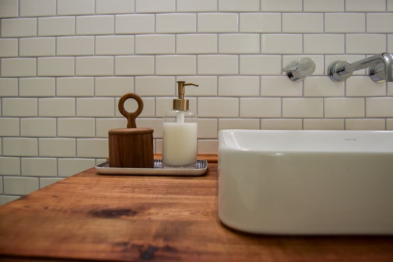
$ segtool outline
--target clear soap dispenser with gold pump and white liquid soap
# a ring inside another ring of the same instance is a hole
[[[189,110],[184,87],[198,85],[185,81],[177,85],[178,98],[164,117],[162,161],[166,168],[192,168],[197,164],[197,114]]]

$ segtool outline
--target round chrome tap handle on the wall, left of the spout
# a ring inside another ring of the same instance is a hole
[[[300,82],[314,73],[315,62],[311,58],[302,58],[292,61],[287,66],[282,67],[282,71],[286,72],[286,75],[291,81]]]

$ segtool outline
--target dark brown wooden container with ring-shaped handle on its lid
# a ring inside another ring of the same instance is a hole
[[[129,113],[124,102],[134,98],[138,109]],[[153,129],[137,128],[135,119],[143,110],[143,100],[135,93],[123,95],[118,103],[120,113],[127,118],[127,128],[109,130],[109,166],[114,168],[153,168]]]

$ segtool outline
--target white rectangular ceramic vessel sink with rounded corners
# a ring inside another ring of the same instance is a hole
[[[221,130],[218,214],[268,234],[393,234],[393,131]]]

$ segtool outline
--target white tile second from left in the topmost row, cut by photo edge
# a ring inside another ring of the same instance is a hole
[[[20,0],[19,16],[56,15],[56,0]]]

